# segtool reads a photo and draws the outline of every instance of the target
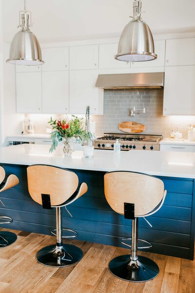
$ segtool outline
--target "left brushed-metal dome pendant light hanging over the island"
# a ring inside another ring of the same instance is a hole
[[[41,65],[42,61],[39,41],[30,31],[31,12],[26,10],[24,0],[24,11],[20,11],[21,30],[14,36],[6,62],[17,65]]]

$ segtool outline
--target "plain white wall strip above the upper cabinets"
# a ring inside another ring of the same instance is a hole
[[[3,0],[3,42],[17,32],[23,0]],[[133,0],[27,0],[39,42],[119,37]],[[195,0],[142,0],[143,20],[153,33],[195,30]]]

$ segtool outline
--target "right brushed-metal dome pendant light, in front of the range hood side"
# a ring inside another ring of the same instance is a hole
[[[149,26],[141,19],[141,0],[134,0],[134,16],[120,36],[115,59],[126,62],[150,61],[157,58]]]

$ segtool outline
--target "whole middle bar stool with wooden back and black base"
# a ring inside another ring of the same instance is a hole
[[[61,207],[66,208],[87,192],[86,183],[82,183],[76,191],[78,188],[76,173],[44,165],[27,167],[27,178],[32,199],[42,205],[43,209],[56,208],[56,229],[52,230],[52,233],[57,236],[57,243],[38,251],[36,255],[38,262],[48,267],[65,267],[77,263],[82,258],[82,251],[75,245],[62,244],[62,238],[72,238],[78,234],[71,229],[62,229]],[[62,230],[71,231],[74,235],[62,236]]]

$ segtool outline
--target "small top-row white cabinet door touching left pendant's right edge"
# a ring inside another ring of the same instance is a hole
[[[69,47],[43,48],[42,71],[69,70]]]

